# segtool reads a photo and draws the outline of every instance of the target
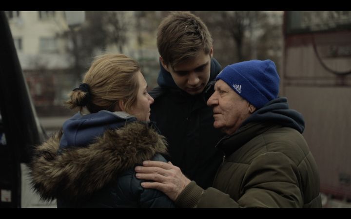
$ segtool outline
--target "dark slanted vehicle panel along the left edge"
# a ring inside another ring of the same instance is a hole
[[[0,11],[0,208],[20,207],[20,163],[44,139],[20,67],[10,27]]]

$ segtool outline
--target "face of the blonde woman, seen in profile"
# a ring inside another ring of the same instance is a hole
[[[137,72],[137,80],[139,83],[139,90],[137,92],[137,102],[131,107],[129,114],[137,117],[141,121],[150,121],[150,105],[154,103],[147,92],[147,83],[141,72]]]

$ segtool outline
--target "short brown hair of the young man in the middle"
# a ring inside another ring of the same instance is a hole
[[[194,58],[199,51],[209,54],[213,39],[206,25],[190,12],[172,12],[157,29],[157,48],[166,65],[172,68]]]

